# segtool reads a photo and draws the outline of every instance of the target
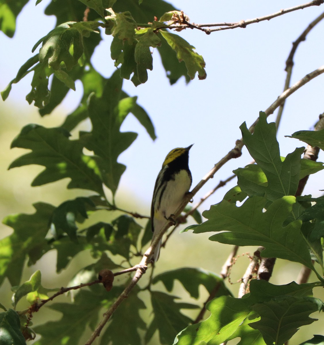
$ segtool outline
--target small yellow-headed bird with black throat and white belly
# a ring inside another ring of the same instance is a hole
[[[165,157],[162,169],[156,178],[151,205],[152,241],[189,191],[192,183],[189,150],[192,145],[171,150]],[[159,258],[161,242],[162,239],[155,248],[152,261]]]

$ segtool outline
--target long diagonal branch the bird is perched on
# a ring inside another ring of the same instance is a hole
[[[323,0],[324,1],[324,0]],[[292,87],[290,87],[288,90],[283,92],[275,102],[273,102],[269,108],[266,109],[265,113],[268,115],[273,114],[275,109],[280,105],[280,103],[289,97],[293,92],[301,88],[303,85],[305,85],[307,82],[312,80],[313,78],[319,76],[324,72],[324,66],[316,69],[315,71],[307,74],[303,79],[299,80],[297,83],[295,83]],[[258,119],[250,126],[249,131],[252,133],[254,131],[254,128],[258,122]],[[196,195],[196,193],[201,189],[201,187],[206,184],[206,182],[212,178],[215,173],[230,159],[237,158],[241,156],[241,150],[243,147],[243,141],[237,140],[235,147],[228,152],[227,155],[225,155],[221,160],[215,164],[215,166],[206,174],[202,180],[197,184],[196,187],[194,187],[191,191],[191,193],[188,193],[178,207],[178,209],[174,212],[174,218],[176,219],[181,214],[184,207],[188,204],[190,199]],[[139,279],[142,277],[143,273],[145,273],[145,270],[147,269],[147,264],[149,263],[149,258],[151,257],[152,253],[154,253],[154,249],[158,245],[160,239],[162,238],[165,231],[172,225],[171,221],[166,221],[165,225],[162,227],[162,229],[159,231],[159,233],[154,237],[154,240],[151,243],[151,246],[146,250],[146,252],[143,255],[143,258],[139,265],[134,266],[137,267],[135,276],[131,280],[131,282],[126,286],[122,294],[116,299],[116,301],[113,303],[113,305],[108,309],[108,311],[104,314],[104,318],[102,321],[98,324],[97,328],[94,330],[88,341],[86,342],[86,345],[90,345],[93,343],[96,337],[99,336],[101,330],[105,326],[105,324],[108,322],[111,315],[114,313],[114,311],[117,309],[117,307],[122,303],[122,301],[128,296],[128,294],[131,292],[131,290],[134,288],[134,286],[137,284]]]

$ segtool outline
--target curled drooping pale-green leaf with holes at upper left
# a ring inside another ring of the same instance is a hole
[[[99,26],[97,21],[66,22],[50,31],[33,47],[34,52],[42,42],[39,50],[39,61],[46,62],[55,70],[65,63],[68,71],[78,63],[84,51],[83,36],[89,37]],[[72,50],[72,51],[71,51]]]

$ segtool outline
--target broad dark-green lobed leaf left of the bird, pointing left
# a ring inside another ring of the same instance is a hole
[[[71,180],[67,188],[94,190],[104,195],[102,176],[95,158],[82,153],[79,140],[69,140],[69,133],[62,128],[44,128],[38,125],[25,126],[12,141],[11,147],[32,150],[14,160],[9,169],[29,164],[45,166],[32,181],[32,186],[41,186],[66,177]]]

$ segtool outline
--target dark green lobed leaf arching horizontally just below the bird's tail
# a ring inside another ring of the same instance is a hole
[[[213,293],[214,297],[231,295],[225,287],[224,279],[202,268],[183,267],[166,271],[155,276],[153,284],[161,281],[165,288],[171,292],[175,279],[178,279],[190,296],[196,299],[199,298],[200,284],[206,287],[209,294]]]

